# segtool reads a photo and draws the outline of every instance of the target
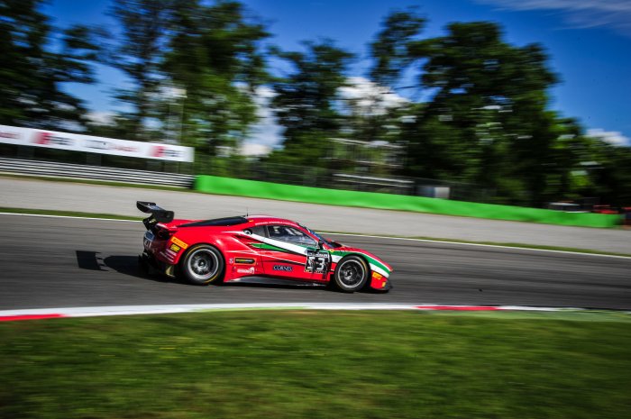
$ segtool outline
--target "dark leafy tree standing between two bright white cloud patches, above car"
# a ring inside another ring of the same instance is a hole
[[[272,84],[276,93],[272,105],[285,128],[284,149],[272,159],[322,166],[318,159],[325,156],[328,140],[339,135],[342,127],[336,101],[340,87],[346,85],[344,73],[353,56],[330,40],[303,44],[306,52],[276,51],[293,72]]]

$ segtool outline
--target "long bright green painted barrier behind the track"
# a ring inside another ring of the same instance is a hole
[[[620,217],[611,214],[563,213],[521,206],[477,204],[424,196],[379,194],[325,189],[322,187],[298,187],[295,185],[218,178],[215,176],[197,176],[194,188],[200,192],[216,195],[250,196],[253,198],[278,199],[309,204],[359,206],[362,208],[458,215],[530,223],[581,227],[614,227],[620,223]]]

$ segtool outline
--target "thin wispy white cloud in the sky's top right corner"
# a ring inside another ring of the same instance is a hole
[[[608,26],[631,36],[631,0],[476,0],[509,10],[548,10],[563,15],[572,27]]]

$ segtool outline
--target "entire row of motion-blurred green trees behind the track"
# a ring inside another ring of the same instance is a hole
[[[266,25],[240,1],[112,1],[120,33],[55,29],[40,0],[0,2],[0,123],[181,142],[203,156],[198,167],[242,176],[237,150],[271,89],[284,131],[269,167],[462,182],[479,186],[480,200],[495,191],[498,204],[593,196],[631,205],[631,149],[588,138],[553,112],[559,77],[544,47],[509,43],[497,23],[450,23],[443,36],[423,38],[425,17],[396,10],[370,40],[369,93],[348,97],[343,87],[359,78],[348,78],[352,53],[332,40],[266,50]],[[287,73],[270,76],[268,59]],[[86,123],[87,109],[63,89],[92,83],[96,60],[130,80],[114,92],[129,109],[111,125]],[[389,105],[404,88],[409,101]],[[405,159],[390,164],[393,154],[368,146],[359,159],[346,144],[361,141],[404,144]]]

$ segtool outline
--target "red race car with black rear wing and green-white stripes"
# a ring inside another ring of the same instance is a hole
[[[142,266],[197,284],[246,278],[332,283],[343,292],[391,288],[392,267],[368,251],[329,241],[293,221],[262,215],[174,220],[173,212],[138,201],[147,232]]]

